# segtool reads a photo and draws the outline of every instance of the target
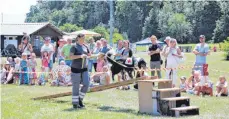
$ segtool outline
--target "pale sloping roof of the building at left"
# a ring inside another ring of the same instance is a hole
[[[61,35],[64,33],[59,30],[54,25],[46,22],[46,23],[20,23],[20,24],[11,24],[11,23],[1,23],[1,35],[23,35],[23,32],[31,35],[40,29],[50,26],[53,30],[58,32]]]

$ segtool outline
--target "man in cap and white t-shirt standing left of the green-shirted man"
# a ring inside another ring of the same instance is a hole
[[[43,56],[43,52],[48,52],[48,56],[49,56],[49,70],[52,70],[53,67],[53,53],[54,53],[54,47],[52,44],[50,44],[51,38],[50,37],[46,37],[45,39],[45,43],[44,45],[41,47],[41,58]]]

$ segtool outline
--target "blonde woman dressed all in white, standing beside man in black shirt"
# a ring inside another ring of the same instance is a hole
[[[177,79],[177,68],[180,63],[181,58],[181,51],[178,47],[177,40],[171,39],[169,43],[169,48],[166,49],[165,53],[167,57],[167,64],[166,64],[166,78],[172,79],[173,87],[176,86],[176,79]],[[170,72],[172,72],[172,76],[170,76]]]

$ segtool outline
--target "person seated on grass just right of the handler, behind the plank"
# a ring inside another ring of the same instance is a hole
[[[91,80],[92,82],[99,83],[99,85],[110,84],[111,73],[109,71],[108,66],[103,66],[103,71],[95,73],[93,76],[91,76]]]

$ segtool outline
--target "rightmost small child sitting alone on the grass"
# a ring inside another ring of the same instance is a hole
[[[216,97],[228,96],[228,85],[225,76],[220,76],[216,84]]]

